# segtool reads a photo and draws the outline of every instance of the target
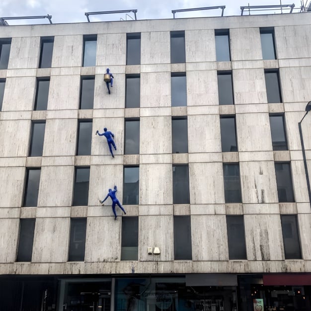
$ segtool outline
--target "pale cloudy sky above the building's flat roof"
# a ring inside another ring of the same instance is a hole
[[[299,12],[300,0],[281,0],[282,4],[295,3],[294,11]],[[306,2],[306,0],[304,0]],[[309,5],[308,0],[308,5]],[[225,16],[239,15],[240,6],[277,5],[280,0],[0,0],[0,17],[52,15],[53,23],[86,22],[85,12],[138,9],[137,19],[172,18],[172,9],[196,8],[204,6],[226,5]],[[276,13],[280,11],[275,10]],[[259,13],[259,12],[257,12]],[[262,13],[262,12],[261,12]],[[268,11],[266,13],[274,13]],[[245,14],[245,13],[244,13]],[[254,13],[251,13],[254,14]],[[134,17],[133,14],[130,14]],[[220,16],[221,9],[197,12],[176,13],[176,18]],[[127,18],[125,14],[109,14],[90,16],[91,21],[120,20]],[[8,21],[12,24],[46,23],[47,20]]]

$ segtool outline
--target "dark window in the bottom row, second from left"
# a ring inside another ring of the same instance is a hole
[[[84,261],[86,218],[72,218],[68,261]]]

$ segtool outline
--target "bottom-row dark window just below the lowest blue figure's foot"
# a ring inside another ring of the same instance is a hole
[[[138,217],[122,217],[121,260],[138,260]]]

